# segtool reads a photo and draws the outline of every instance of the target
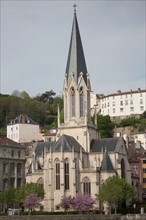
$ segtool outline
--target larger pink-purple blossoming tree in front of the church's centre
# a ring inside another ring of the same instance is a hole
[[[95,200],[88,194],[77,195],[76,198],[73,199],[72,207],[76,211],[80,212],[88,212],[93,209],[95,204]]]

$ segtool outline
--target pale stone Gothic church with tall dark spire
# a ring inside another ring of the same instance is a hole
[[[44,210],[58,211],[62,196],[90,194],[96,198],[100,184],[119,175],[131,183],[127,148],[122,137],[100,139],[90,114],[90,76],[87,71],[76,8],[63,82],[64,122],[56,141],[39,142],[27,158],[26,182],[44,187]],[[99,209],[96,202],[96,209]]]

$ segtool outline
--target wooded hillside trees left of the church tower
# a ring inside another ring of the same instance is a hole
[[[63,122],[63,100],[53,90],[30,97],[25,91],[13,95],[0,94],[0,132],[6,134],[6,125],[20,114],[36,121],[43,130],[57,127],[57,108]]]

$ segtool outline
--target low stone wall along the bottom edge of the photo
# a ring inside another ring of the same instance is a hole
[[[0,216],[0,220],[146,220],[146,214],[127,215],[41,215],[41,216]]]

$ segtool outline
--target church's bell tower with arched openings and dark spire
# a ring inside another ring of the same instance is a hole
[[[90,115],[90,77],[87,71],[82,41],[74,5],[74,17],[63,85],[64,123],[57,136],[73,136],[89,152],[90,142],[97,138],[96,126]]]

